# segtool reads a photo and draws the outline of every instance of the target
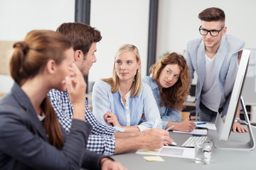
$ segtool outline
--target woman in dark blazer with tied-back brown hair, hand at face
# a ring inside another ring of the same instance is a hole
[[[73,63],[65,36],[32,30],[14,44],[10,61],[14,86],[0,100],[0,169],[108,169],[112,159],[86,150],[92,130],[85,123],[85,80]],[[68,89],[73,123],[67,135],[47,96]]]

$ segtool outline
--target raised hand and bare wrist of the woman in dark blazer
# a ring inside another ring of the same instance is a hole
[[[85,79],[75,63],[69,69],[71,74],[65,77],[63,83],[68,89],[68,98],[74,106],[73,118],[85,120]]]

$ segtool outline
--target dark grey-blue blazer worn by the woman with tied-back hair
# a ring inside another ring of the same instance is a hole
[[[70,133],[63,130],[65,145],[56,149],[28,96],[14,83],[0,100],[0,169],[100,169],[104,156],[86,150],[91,130],[90,123],[74,119]]]

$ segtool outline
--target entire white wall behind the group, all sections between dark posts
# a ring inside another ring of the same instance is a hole
[[[228,34],[245,40],[246,47],[256,48],[255,0],[159,0],[156,60],[166,51],[183,54],[188,40],[200,37],[198,13],[211,6],[225,11]],[[55,30],[61,23],[73,21],[75,0],[0,1],[0,40],[22,40],[30,30]],[[92,0],[90,25],[101,31],[102,40],[89,81],[112,76],[114,53],[125,43],[138,47],[142,76],[146,75],[149,0]],[[3,82],[0,75],[0,90],[6,86]]]

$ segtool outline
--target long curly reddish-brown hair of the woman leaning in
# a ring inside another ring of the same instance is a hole
[[[189,83],[190,74],[189,67],[186,64],[186,60],[182,55],[178,55],[176,52],[172,52],[170,55],[166,55],[161,59],[160,62],[152,65],[150,67],[150,72],[152,74],[153,80],[157,81],[161,74],[161,71],[168,64],[178,64],[181,69],[181,74],[174,86],[169,88],[163,88],[160,92],[161,105],[167,108],[175,108],[181,110],[183,108],[183,103],[188,98],[189,94]]]

